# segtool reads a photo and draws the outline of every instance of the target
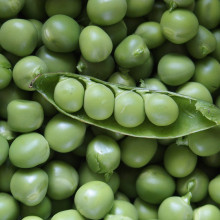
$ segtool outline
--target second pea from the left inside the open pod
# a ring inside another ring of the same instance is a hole
[[[87,85],[84,96],[84,110],[95,120],[109,118],[114,110],[114,94],[107,86],[100,83]]]

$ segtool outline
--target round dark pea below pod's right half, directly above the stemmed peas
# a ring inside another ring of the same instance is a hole
[[[197,155],[187,146],[172,144],[164,153],[164,166],[173,177],[186,177],[193,172]]]

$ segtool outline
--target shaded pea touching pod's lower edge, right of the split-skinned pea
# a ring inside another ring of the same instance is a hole
[[[121,160],[130,167],[140,168],[149,163],[157,150],[155,139],[125,137],[120,142]]]

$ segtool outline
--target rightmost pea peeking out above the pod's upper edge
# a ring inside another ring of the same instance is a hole
[[[187,82],[176,90],[181,95],[193,97],[195,99],[201,99],[206,102],[213,103],[212,95],[209,90],[201,83]]]

